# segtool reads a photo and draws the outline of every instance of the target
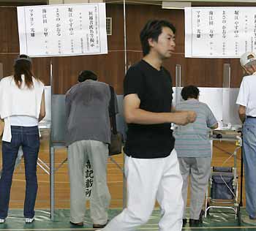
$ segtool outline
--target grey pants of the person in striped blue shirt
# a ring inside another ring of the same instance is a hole
[[[186,219],[187,189],[190,175],[190,219],[199,219],[203,202],[206,198],[206,188],[211,174],[211,157],[179,157],[181,175],[183,178],[182,197]]]

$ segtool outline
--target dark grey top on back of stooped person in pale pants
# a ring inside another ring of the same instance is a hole
[[[66,94],[67,145],[79,140],[110,143],[110,88],[94,80],[77,83]]]

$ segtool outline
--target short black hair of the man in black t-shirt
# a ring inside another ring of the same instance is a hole
[[[140,31],[140,43],[143,50],[143,56],[146,56],[150,51],[148,39],[153,39],[157,42],[159,34],[162,34],[163,27],[170,28],[173,31],[173,34],[176,32],[175,26],[167,20],[149,20],[142,31]]]

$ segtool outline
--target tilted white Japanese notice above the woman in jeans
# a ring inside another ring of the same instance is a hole
[[[108,53],[105,3],[17,7],[20,53],[31,57]]]

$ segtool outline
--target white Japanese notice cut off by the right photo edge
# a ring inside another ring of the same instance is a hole
[[[185,8],[185,57],[240,58],[256,51],[256,7]]]

